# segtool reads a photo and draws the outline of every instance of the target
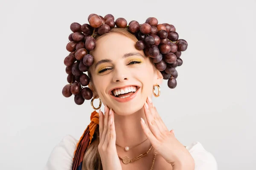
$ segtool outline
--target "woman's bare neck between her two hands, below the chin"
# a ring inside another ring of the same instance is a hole
[[[127,116],[115,114],[116,144],[122,147],[131,147],[131,150],[133,150],[134,146],[147,139],[140,124],[141,117],[147,124],[143,108]],[[150,141],[146,140],[135,148],[148,150],[150,146]]]

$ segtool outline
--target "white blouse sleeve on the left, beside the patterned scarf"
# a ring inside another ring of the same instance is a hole
[[[73,136],[65,136],[53,148],[44,170],[72,170],[73,156],[77,142]]]

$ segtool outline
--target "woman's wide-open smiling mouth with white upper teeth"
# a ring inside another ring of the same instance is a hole
[[[138,86],[131,85],[125,88],[116,88],[111,92],[113,96],[124,99],[134,94],[139,88]]]

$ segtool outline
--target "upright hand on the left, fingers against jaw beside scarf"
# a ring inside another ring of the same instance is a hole
[[[105,115],[99,110],[99,155],[103,170],[122,170],[116,151],[114,112],[105,106]]]

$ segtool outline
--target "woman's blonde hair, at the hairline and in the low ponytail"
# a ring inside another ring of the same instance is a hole
[[[101,36],[96,36],[95,40],[99,40],[101,37],[111,33],[122,34],[128,38],[131,38],[131,40],[134,40],[134,42],[138,41],[136,36],[129,32],[128,28],[112,28],[108,33]],[[91,77],[89,71],[88,76]],[[103,170],[98,151],[99,137],[97,136],[99,136],[99,127],[96,128],[93,136],[94,140],[91,142],[90,146],[87,148],[84,154],[82,170]]]

